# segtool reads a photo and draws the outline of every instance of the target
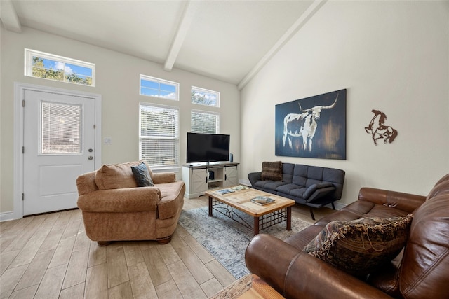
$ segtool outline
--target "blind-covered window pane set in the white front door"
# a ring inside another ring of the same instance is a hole
[[[81,153],[81,106],[41,102],[40,153]]]

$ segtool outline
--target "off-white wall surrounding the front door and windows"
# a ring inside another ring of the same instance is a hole
[[[21,34],[1,27],[1,200],[0,213],[13,211],[13,122],[14,82],[52,86],[102,95],[102,138],[111,137],[112,145],[102,145],[102,163],[138,160],[139,102],[180,107],[180,162],[185,163],[186,136],[190,130],[191,109],[218,111],[190,102],[192,85],[220,92],[221,132],[231,135],[234,161],[240,160],[240,92],[236,85],[173,69],[164,71],[156,64],[136,57],[91,46],[71,39],[23,27]],[[71,57],[96,64],[96,87],[30,78],[24,72],[24,48]],[[139,75],[145,74],[180,83],[180,101],[139,95]],[[177,173],[182,179],[182,172]]]

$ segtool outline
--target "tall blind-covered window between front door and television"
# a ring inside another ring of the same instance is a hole
[[[179,110],[140,103],[140,159],[154,169],[179,167]]]

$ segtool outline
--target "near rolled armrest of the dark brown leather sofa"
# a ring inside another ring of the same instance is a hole
[[[253,237],[246,267],[286,298],[391,298],[323,260],[276,239]]]

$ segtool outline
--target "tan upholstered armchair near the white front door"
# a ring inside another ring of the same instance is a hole
[[[130,166],[103,165],[76,179],[78,207],[89,239],[105,246],[111,241],[170,242],[184,204],[185,184],[172,172],[152,173],[154,186],[138,187]]]

